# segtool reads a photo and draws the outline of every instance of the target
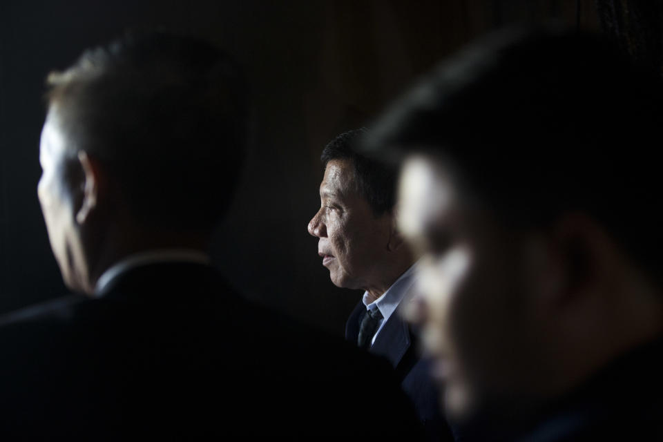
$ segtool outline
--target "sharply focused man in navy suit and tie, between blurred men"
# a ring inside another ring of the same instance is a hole
[[[414,286],[414,257],[396,229],[395,172],[352,151],[363,134],[350,131],[323,150],[320,210],[308,225],[338,287],[362,289],[345,337],[394,367],[430,439],[450,439],[419,340],[398,314]]]

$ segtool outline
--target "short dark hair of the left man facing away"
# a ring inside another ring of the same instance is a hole
[[[138,222],[214,227],[244,157],[244,84],[227,55],[194,37],[128,33],[48,85],[70,153],[104,164]]]

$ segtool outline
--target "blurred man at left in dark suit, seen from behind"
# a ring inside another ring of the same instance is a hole
[[[2,318],[4,435],[417,438],[386,364],[247,304],[211,267],[244,150],[222,52],[127,35],[48,82],[39,201],[66,285],[88,297]],[[385,388],[348,407],[373,370]],[[365,425],[372,401],[395,433]]]

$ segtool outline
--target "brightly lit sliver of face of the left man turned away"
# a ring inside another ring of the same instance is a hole
[[[75,207],[80,203],[82,189],[77,193],[75,188],[76,182],[82,180],[77,175],[77,161],[68,154],[69,144],[57,108],[51,106],[41,131],[37,195],[62,278],[70,289],[79,290],[84,279]]]

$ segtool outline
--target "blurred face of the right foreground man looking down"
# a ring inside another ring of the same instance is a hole
[[[464,193],[443,162],[412,156],[401,171],[398,227],[416,251],[423,328],[452,419],[526,390],[532,369],[525,242]]]

